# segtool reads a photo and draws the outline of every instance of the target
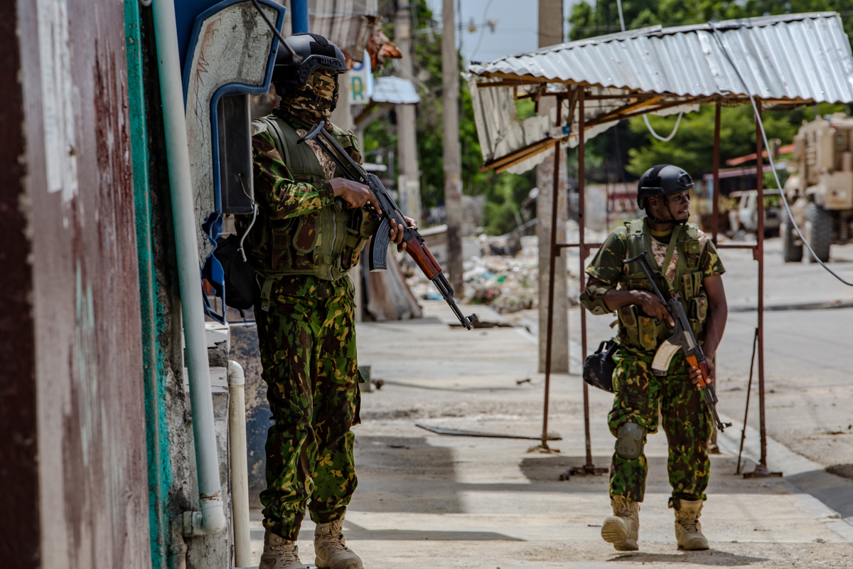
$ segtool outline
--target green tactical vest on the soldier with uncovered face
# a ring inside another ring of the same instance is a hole
[[[658,263],[652,254],[652,234],[648,229],[645,218],[626,221],[628,229],[628,256],[634,258],[642,252],[647,253],[648,264],[657,267]],[[676,276],[673,282],[666,278],[666,268],[672,255],[678,247]],[[705,330],[705,319],[708,313],[708,297],[702,287],[702,271],[699,266],[702,256],[702,245],[699,242],[699,230],[693,225],[676,225],[670,235],[663,268],[653,272],[658,280],[661,291],[665,294],[675,294],[688,315],[693,334],[701,340]],[[628,265],[628,275],[624,276],[624,289],[646,290],[653,292],[651,284],[643,274],[638,263]],[[656,350],[669,334],[669,326],[665,321],[659,321],[653,316],[646,316],[637,305],[623,306],[618,310],[619,343],[640,351]]]

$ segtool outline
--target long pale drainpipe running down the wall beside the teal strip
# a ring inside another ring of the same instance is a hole
[[[177,276],[181,289],[183,336],[189,373],[189,398],[193,412],[195,466],[199,477],[201,528],[219,533],[226,526],[219,460],[213,429],[213,398],[207,367],[205,317],[202,311],[199,250],[195,235],[192,179],[184,115],[183,85],[177,50],[173,0],[154,0],[154,38],[160,72],[166,158],[169,164],[171,211],[175,226]]]

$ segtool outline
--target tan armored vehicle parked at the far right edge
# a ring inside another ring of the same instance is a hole
[[[853,117],[836,113],[804,121],[788,168],[795,172],[785,183],[794,220],[817,258],[827,261],[830,245],[853,241]],[[787,215],[780,235],[786,262],[802,260],[803,242]]]

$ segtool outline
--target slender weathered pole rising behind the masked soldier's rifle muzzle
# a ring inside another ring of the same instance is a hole
[[[559,1],[559,0],[558,0]],[[462,297],[462,166],[459,148],[459,58],[453,0],[442,0],[441,76],[444,90],[444,208],[450,286]]]

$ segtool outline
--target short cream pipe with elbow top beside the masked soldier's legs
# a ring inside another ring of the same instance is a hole
[[[252,565],[249,536],[249,467],[246,454],[246,375],[239,363],[228,363],[229,446],[231,454],[231,520],[234,522],[234,564]]]

